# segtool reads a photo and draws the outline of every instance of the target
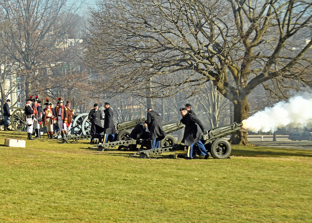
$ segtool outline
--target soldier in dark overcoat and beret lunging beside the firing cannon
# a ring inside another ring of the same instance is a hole
[[[188,113],[186,108],[180,108],[180,114],[182,116],[181,122],[185,125],[185,134],[182,139],[182,143],[188,146],[186,159],[193,159],[193,146],[194,143],[197,144],[202,155],[205,159],[209,157],[204,144],[200,141],[202,138],[202,132],[204,131],[204,126],[202,122],[192,113]]]

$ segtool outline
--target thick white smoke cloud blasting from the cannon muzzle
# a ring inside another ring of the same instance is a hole
[[[304,128],[312,125],[312,92],[299,92],[288,102],[278,102],[245,119],[243,128],[253,132],[275,132],[281,127]]]

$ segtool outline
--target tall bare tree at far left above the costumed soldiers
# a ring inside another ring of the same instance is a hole
[[[1,15],[8,29],[3,30],[9,44],[8,57],[20,67],[19,75],[25,83],[25,94],[36,88],[42,68],[51,66],[51,56],[56,56],[57,46],[64,43],[76,22],[74,7],[77,1],[67,0],[11,0],[3,2]],[[39,75],[39,76],[38,76]]]

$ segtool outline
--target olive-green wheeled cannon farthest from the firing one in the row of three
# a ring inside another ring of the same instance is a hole
[[[141,121],[145,121],[145,118],[138,118],[134,120],[122,121],[122,122],[117,123],[116,125],[117,140],[120,141],[120,140],[129,138],[130,131],[128,129],[133,128],[134,126],[136,126],[136,124],[138,124]],[[85,120],[83,122],[85,122]],[[100,137],[100,135],[98,137]],[[91,138],[90,134],[80,135],[80,136],[70,136],[70,137],[62,138],[61,143],[68,143],[68,141],[76,142],[80,139],[90,139],[90,138]]]

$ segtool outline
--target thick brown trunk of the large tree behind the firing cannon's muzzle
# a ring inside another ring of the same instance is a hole
[[[249,104],[247,101],[247,96],[243,99],[236,100],[234,104],[234,122],[240,123],[248,118]],[[247,140],[247,131],[243,128],[240,131],[232,134],[229,142],[233,145],[246,145],[249,146],[250,143]]]

